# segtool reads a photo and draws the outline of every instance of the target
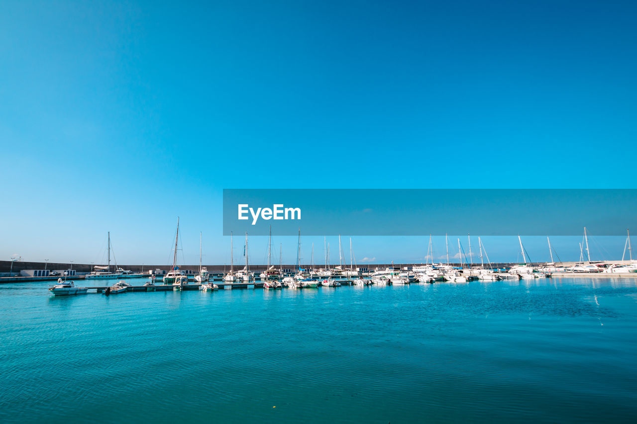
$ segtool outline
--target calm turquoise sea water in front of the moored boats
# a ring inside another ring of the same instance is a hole
[[[635,279],[110,297],[46,287],[0,286],[3,423],[637,414]]]

